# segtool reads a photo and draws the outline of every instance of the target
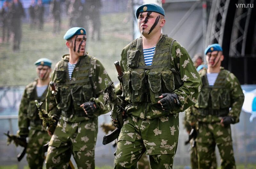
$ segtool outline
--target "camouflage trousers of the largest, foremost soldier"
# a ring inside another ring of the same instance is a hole
[[[156,119],[128,116],[118,137],[115,168],[136,168],[145,151],[151,168],[172,168],[179,137],[179,121],[172,116]]]

